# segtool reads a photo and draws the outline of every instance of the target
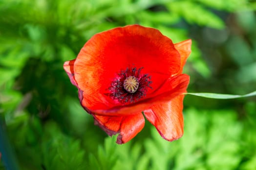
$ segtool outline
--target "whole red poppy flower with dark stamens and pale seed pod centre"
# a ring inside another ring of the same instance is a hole
[[[173,44],[153,28],[118,27],[95,34],[77,58],[64,63],[84,109],[117,143],[128,142],[144,127],[145,117],[172,141],[183,135],[182,74],[191,40]]]

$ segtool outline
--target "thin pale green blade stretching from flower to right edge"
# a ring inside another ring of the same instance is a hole
[[[211,98],[211,99],[237,99],[237,98],[256,96],[256,91],[245,94],[245,95],[218,94],[218,93],[185,93],[185,94],[200,96],[204,98]]]

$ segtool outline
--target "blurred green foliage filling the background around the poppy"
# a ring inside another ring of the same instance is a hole
[[[0,118],[21,170],[256,169],[255,97],[186,96],[181,139],[167,142],[147,122],[117,145],[63,70],[93,34],[137,23],[193,39],[189,92],[245,94],[256,87],[255,9],[253,0],[0,0]]]

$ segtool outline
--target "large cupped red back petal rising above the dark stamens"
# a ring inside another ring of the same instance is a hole
[[[90,109],[121,105],[104,94],[116,73],[128,67],[144,67],[143,73],[151,75],[156,89],[179,71],[180,54],[171,39],[153,28],[130,25],[94,35],[74,65],[75,80],[84,100],[91,102]]]

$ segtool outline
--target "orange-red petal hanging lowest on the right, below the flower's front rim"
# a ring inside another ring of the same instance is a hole
[[[166,140],[176,140],[183,135],[183,98],[184,95],[180,95],[170,102],[153,105],[144,111],[145,117]]]

